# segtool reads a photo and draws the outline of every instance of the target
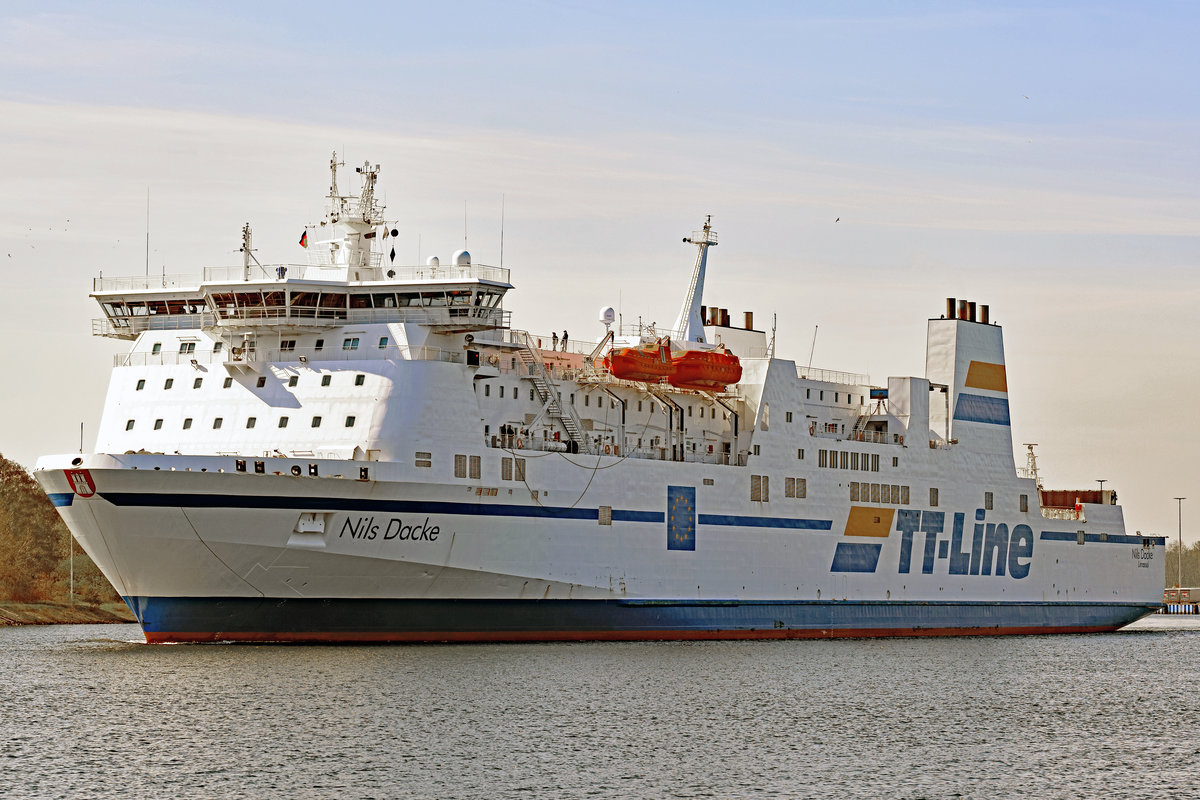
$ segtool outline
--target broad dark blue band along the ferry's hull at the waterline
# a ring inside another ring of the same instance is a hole
[[[883,601],[738,601],[738,600],[347,600],[283,597],[126,597],[148,638],[163,634],[211,634],[209,638],[305,640],[306,634],[371,640],[386,634],[470,634],[499,640],[556,638],[576,632],[590,638],[612,633],[750,631],[953,630],[988,632],[1007,628],[1114,630],[1159,608],[1159,603],[1086,602],[883,602]],[[520,636],[517,636],[520,634]],[[251,638],[251,637],[242,637]]]

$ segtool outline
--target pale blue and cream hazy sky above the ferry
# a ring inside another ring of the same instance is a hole
[[[782,357],[887,385],[988,303],[1018,462],[1200,540],[1198,40],[1188,2],[6,2],[0,453],[91,447],[94,277],[238,264],[246,222],[302,261],[336,150],[397,264],[499,264],[503,218],[535,333],[673,323],[709,213],[707,302]]]

